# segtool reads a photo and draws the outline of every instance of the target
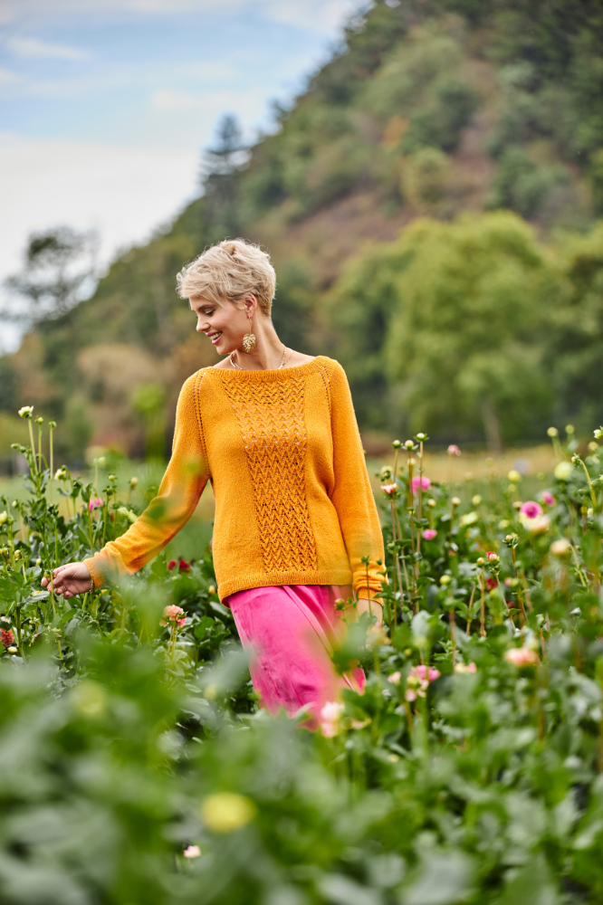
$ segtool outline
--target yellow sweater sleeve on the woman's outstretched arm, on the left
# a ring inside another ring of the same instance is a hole
[[[186,525],[199,501],[209,469],[195,405],[196,375],[180,391],[172,456],[158,495],[131,528],[85,559],[96,587],[110,576],[138,572]]]

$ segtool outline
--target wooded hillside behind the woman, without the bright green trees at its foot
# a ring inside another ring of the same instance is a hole
[[[283,340],[340,354],[342,271],[417,217],[506,208],[543,240],[586,231],[603,212],[602,47],[599,0],[377,0],[244,166],[215,148],[202,197],[5,357],[0,405],[43,405],[72,457],[88,443],[142,452],[140,392],[173,412],[183,379],[215,361],[174,284],[225,235],[273,255]],[[370,329],[381,348],[388,312]],[[376,392],[389,380],[384,368]],[[388,421],[390,398],[359,405],[365,424]]]

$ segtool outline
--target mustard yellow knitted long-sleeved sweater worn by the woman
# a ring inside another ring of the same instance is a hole
[[[220,599],[268,585],[353,583],[365,597],[381,589],[377,508],[338,362],[204,367],[189,377],[158,495],[121,538],[85,560],[95,586],[155,557],[195,511],[207,481]],[[368,582],[360,557],[370,557]]]

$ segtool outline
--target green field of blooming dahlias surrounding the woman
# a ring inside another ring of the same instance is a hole
[[[22,413],[28,497],[0,499],[1,900],[603,899],[601,429],[550,429],[530,498],[513,470],[433,480],[424,434],[393,444],[383,627],[350,620],[333,654],[367,689],[311,733],[259,709],[209,548],[69,601],[42,588],[146,501],[101,463],[58,467],[55,425]]]

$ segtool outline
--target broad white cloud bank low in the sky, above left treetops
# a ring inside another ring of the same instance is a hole
[[[0,133],[0,197],[10,211],[0,221],[0,283],[20,269],[29,233],[57,224],[97,229],[101,262],[109,262],[168,221],[192,197],[197,174],[195,148],[118,148]]]

